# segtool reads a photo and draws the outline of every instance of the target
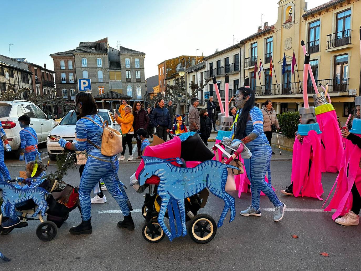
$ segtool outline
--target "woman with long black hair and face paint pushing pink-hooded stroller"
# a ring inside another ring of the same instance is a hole
[[[234,130],[233,142],[242,141],[252,152],[250,159],[244,159],[248,178],[251,181],[252,205],[240,214],[243,216],[261,216],[260,193],[269,197],[275,212],[274,221],[283,218],[286,205],[277,198],[272,186],[265,181],[266,172],[270,166],[272,149],[263,132],[263,114],[255,104],[255,93],[248,87],[241,87],[235,95],[239,117]]]

